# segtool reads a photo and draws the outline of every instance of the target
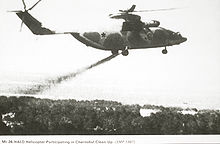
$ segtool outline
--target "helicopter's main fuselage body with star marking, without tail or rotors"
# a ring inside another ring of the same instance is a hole
[[[179,33],[162,27],[140,31],[85,32],[71,33],[80,42],[101,50],[118,51],[125,49],[145,49],[177,45],[187,39]]]

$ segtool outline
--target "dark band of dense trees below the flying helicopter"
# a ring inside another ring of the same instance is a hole
[[[157,109],[143,117],[140,109]],[[0,134],[220,134],[219,110],[0,96]]]

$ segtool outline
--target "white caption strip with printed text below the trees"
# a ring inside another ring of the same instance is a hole
[[[0,136],[1,144],[217,144],[219,135],[37,135]]]

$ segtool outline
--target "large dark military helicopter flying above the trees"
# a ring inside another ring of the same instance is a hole
[[[28,12],[40,1],[41,0],[29,9],[26,9],[26,4],[24,0],[22,0],[24,11],[13,11],[16,12],[17,16],[22,20],[21,27],[24,23],[31,32],[36,35],[71,34],[86,46],[111,51],[113,55],[119,54],[120,51],[123,56],[127,56],[130,49],[160,47],[164,47],[162,53],[167,54],[167,46],[178,45],[187,40],[187,38],[182,37],[179,32],[173,32],[159,27],[159,21],[142,22],[139,15],[133,14],[134,12],[141,12],[135,11],[135,5],[127,10],[119,10],[118,14],[109,15],[112,19],[124,20],[121,30],[118,32],[56,33],[55,31],[42,27],[41,22]]]

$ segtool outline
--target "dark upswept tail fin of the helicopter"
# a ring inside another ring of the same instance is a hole
[[[22,20],[22,22],[31,30],[33,34],[36,35],[50,35],[55,34],[54,31],[42,27],[41,22],[28,13],[28,11],[18,11],[17,16]]]

